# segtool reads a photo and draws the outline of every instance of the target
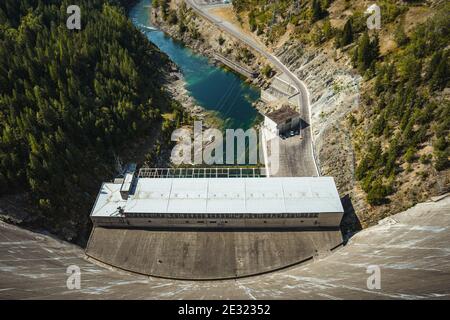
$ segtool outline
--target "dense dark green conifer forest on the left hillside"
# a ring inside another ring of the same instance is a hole
[[[86,230],[114,156],[172,108],[131,2],[77,1],[82,30],[66,28],[70,1],[0,2],[0,194],[30,191],[51,230]]]

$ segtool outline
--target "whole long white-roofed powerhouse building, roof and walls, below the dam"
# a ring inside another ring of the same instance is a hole
[[[230,170],[218,175],[217,170],[224,169],[127,172],[102,185],[92,222],[202,229],[319,228],[341,222],[344,210],[331,177],[264,178]]]

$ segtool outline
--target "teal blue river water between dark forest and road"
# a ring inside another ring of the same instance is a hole
[[[252,103],[260,91],[245,83],[238,75],[211,64],[204,56],[194,53],[160,30],[152,31],[151,0],[140,0],[130,11],[130,19],[147,38],[180,68],[186,89],[197,103],[224,121],[225,128],[248,129],[261,119]]]

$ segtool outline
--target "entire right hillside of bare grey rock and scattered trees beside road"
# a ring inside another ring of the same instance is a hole
[[[448,28],[449,7],[444,1],[382,1],[381,29],[369,30],[364,12],[371,3],[318,3],[319,9],[310,1],[295,7],[287,0],[235,0],[230,13],[305,81],[322,173],[336,178],[341,195],[350,195],[368,226],[449,188],[450,91],[443,71],[448,67],[439,62],[449,55],[448,33],[439,31]],[[372,40],[365,45],[364,39]],[[389,64],[394,76],[383,78]],[[419,71],[404,76],[405,70]],[[440,88],[430,84],[433,72]],[[408,100],[402,90],[412,81]]]

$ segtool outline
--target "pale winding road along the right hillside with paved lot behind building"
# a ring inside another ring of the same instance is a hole
[[[319,176],[316,156],[314,154],[314,141],[311,128],[311,105],[309,103],[309,92],[306,85],[301,81],[295,73],[291,72],[280,59],[269,53],[267,48],[258,43],[255,39],[242,33],[236,26],[227,21],[223,21],[218,17],[212,15],[207,7],[198,4],[195,0],[185,0],[188,7],[194,10],[204,19],[216,25],[221,30],[232,35],[236,39],[245,43],[247,46],[265,57],[272,65],[279,71],[284,73],[291,80],[291,83],[299,95],[295,96],[298,99],[300,106],[300,115],[302,119],[307,120],[308,125],[303,128],[302,139],[290,139],[279,141],[280,144],[280,163],[279,169],[274,176]]]

